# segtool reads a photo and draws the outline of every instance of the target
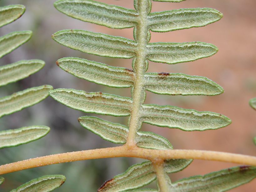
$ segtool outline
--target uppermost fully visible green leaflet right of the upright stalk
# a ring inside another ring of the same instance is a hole
[[[211,8],[188,8],[150,13],[149,29],[154,32],[167,32],[192,27],[203,27],[223,17],[222,13]]]

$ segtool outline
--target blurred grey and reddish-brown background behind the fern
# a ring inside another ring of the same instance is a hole
[[[133,8],[132,0],[99,0]],[[0,88],[0,96],[6,96],[25,88],[50,84],[54,88],[74,88],[85,91],[101,91],[131,96],[130,88],[109,88],[76,78],[61,70],[55,62],[63,57],[79,57],[112,66],[131,68],[131,59],[114,59],[93,56],[59,45],[51,35],[62,29],[84,29],[133,39],[132,28],[109,29],[85,23],[58,12],[54,0],[1,0],[0,6],[23,4],[27,10],[17,21],[0,29],[0,35],[16,30],[32,30],[28,43],[6,55],[1,65],[22,59],[42,59],[45,67],[38,73]],[[175,105],[199,111],[213,111],[232,119],[228,127],[204,132],[184,132],[178,129],[160,128],[143,124],[143,131],[153,131],[170,140],[175,149],[216,150],[256,155],[252,138],[256,135],[256,111],[248,105],[256,97],[256,1],[254,0],[190,0],[182,3],[152,3],[152,12],[178,8],[210,7],[221,11],[224,17],[217,23],[202,28],[192,28],[168,33],[151,33],[151,42],[202,41],[212,43],[219,52],[210,57],[190,63],[168,65],[150,62],[148,72],[186,73],[210,78],[220,84],[225,93],[218,96],[168,96],[147,92],[147,104]],[[46,125],[50,133],[38,141],[15,148],[1,149],[0,164],[34,158],[49,154],[116,146],[82,128],[77,119],[82,112],[70,109],[52,98],[0,119],[0,130],[16,129],[29,125]],[[127,117],[95,115],[100,118],[127,125]],[[136,158],[113,158],[86,160],[19,171],[4,175],[6,181],[0,191],[6,192],[45,174],[64,174],[65,184],[56,191],[97,191],[101,184],[130,165],[142,162]],[[194,160],[181,172],[171,174],[172,181],[197,174],[235,166],[235,164]],[[155,187],[153,182],[151,187]],[[255,191],[256,179],[231,191]]]

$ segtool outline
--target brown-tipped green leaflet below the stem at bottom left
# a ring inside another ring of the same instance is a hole
[[[13,189],[11,192],[49,192],[64,184],[64,175],[45,175]]]

